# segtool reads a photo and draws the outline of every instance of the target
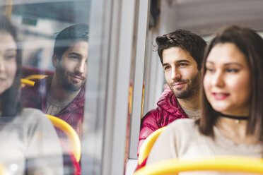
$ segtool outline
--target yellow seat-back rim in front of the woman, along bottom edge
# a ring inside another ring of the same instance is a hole
[[[198,159],[168,159],[134,172],[134,175],[178,174],[182,171],[228,171],[263,174],[263,159],[252,157],[203,157]]]

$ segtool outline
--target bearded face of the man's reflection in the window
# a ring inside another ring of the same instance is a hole
[[[62,58],[53,58],[59,84],[69,91],[78,91],[86,83],[88,60],[88,42],[75,42],[62,54]]]

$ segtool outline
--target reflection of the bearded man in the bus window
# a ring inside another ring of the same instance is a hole
[[[41,109],[69,123],[81,136],[88,59],[88,26],[71,25],[56,37],[54,75],[21,92],[23,107]],[[62,131],[57,130],[59,136]]]

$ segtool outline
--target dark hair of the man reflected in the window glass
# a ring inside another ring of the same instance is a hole
[[[88,42],[88,25],[77,24],[65,28],[57,35],[54,42],[54,55],[61,59],[66,49],[71,47],[75,42]]]

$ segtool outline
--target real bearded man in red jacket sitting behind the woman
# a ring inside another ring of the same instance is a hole
[[[206,42],[187,30],[175,30],[157,37],[156,43],[168,86],[158,99],[158,107],[142,119],[138,155],[142,143],[153,131],[176,119],[195,119],[200,115],[201,61]]]

